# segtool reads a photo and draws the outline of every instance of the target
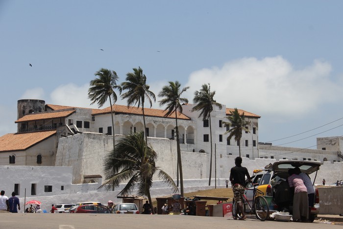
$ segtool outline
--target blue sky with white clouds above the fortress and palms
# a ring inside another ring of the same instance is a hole
[[[18,100],[98,108],[88,99],[95,72],[116,71],[121,83],[141,67],[156,96],[178,80],[192,103],[210,83],[217,102],[261,116],[259,142],[316,149],[317,137],[343,135],[342,8],[341,0],[0,0],[0,136],[17,131]]]

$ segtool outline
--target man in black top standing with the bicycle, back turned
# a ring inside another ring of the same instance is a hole
[[[238,208],[242,212],[242,218],[240,220],[245,220],[245,212],[243,207],[243,195],[245,190],[245,176],[248,180],[251,181],[248,170],[245,167],[242,167],[242,157],[238,156],[235,158],[235,167],[231,168],[230,172],[230,181],[232,185],[232,191],[234,195],[234,200],[238,205]],[[236,219],[236,216],[233,216]]]

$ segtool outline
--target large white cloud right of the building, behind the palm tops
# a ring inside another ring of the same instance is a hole
[[[281,56],[243,58],[222,68],[202,69],[191,74],[191,92],[210,83],[217,102],[259,115],[299,117],[314,111],[324,102],[335,102],[342,88],[330,79],[331,65],[315,60],[311,66],[295,70]],[[341,96],[342,97],[342,96]],[[190,102],[193,94],[188,93]],[[342,99],[342,98],[341,98]]]

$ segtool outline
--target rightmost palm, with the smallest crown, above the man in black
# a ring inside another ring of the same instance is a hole
[[[233,136],[235,137],[235,140],[238,143],[238,149],[241,156],[241,138],[242,138],[242,132],[247,131],[250,132],[246,127],[250,124],[250,121],[245,120],[244,112],[242,115],[238,112],[238,109],[235,108],[234,111],[230,111],[231,115],[225,117],[229,120],[229,122],[223,122],[224,127],[230,127],[228,131],[225,132],[225,134],[230,133],[227,137],[228,140],[230,140]]]

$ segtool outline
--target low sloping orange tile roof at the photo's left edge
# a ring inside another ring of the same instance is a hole
[[[56,130],[8,133],[0,137],[0,152],[24,151],[56,134]]]

